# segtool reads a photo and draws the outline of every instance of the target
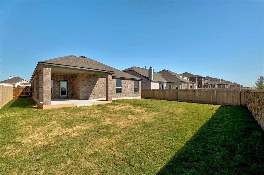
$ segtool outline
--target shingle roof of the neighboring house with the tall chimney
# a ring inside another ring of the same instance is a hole
[[[130,67],[128,69],[123,70],[124,72],[126,71],[135,71],[138,74],[144,76],[145,78],[149,79],[149,69],[141,68],[141,67]],[[163,77],[162,74],[154,72],[153,75],[153,80],[152,81],[159,81],[159,82],[167,82]],[[150,79],[149,79],[150,80]]]

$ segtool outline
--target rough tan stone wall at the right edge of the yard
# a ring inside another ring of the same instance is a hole
[[[264,129],[264,90],[246,91],[246,106]]]

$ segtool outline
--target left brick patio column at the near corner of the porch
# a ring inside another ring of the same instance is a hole
[[[43,105],[51,104],[51,66],[43,65]]]

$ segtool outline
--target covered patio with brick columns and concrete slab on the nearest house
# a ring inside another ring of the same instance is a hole
[[[113,71],[42,63],[33,77],[33,99],[42,109],[112,102]]]

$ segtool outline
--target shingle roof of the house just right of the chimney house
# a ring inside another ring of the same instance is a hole
[[[172,71],[168,71],[166,69],[159,71],[159,74],[163,74],[162,77],[168,82],[168,83],[173,83],[173,82],[184,82],[184,83],[194,83],[192,81],[186,80],[182,77],[185,77],[183,75],[177,74],[175,72]],[[179,77],[181,76],[181,77]],[[188,78],[188,77],[185,77]]]

